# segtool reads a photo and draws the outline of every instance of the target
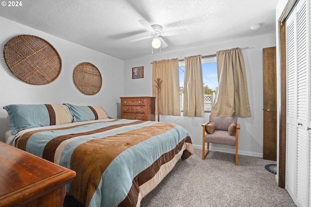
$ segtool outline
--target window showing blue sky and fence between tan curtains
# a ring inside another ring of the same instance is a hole
[[[218,87],[216,55],[202,58],[204,110],[210,111]],[[185,61],[179,61],[180,110],[184,109]]]

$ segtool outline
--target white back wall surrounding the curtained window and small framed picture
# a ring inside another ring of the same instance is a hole
[[[175,52],[154,52],[150,56],[124,63],[124,96],[152,96],[152,64],[154,60],[179,58],[191,55],[211,55],[217,51],[231,48],[243,49],[248,84],[248,95],[252,116],[239,118],[241,131],[239,138],[239,154],[262,157],[263,146],[263,74],[262,74],[262,49],[276,46],[276,34],[259,35],[245,39],[234,39],[227,42],[189,48]],[[132,68],[144,66],[144,78],[132,79]],[[161,116],[160,121],[171,121],[187,129],[196,148],[202,147],[202,123],[208,121],[209,113],[205,118]],[[235,153],[235,147],[226,145],[211,145],[211,150]]]

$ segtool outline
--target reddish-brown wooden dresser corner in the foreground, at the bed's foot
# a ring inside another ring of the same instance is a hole
[[[62,207],[76,173],[0,142],[0,206]]]

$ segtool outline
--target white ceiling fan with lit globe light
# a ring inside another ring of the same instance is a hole
[[[132,40],[129,40],[129,42],[136,42],[136,41],[143,40],[143,39],[153,38],[152,43],[151,43],[153,48],[159,48],[159,47],[165,48],[168,46],[161,36],[182,35],[187,32],[186,29],[162,32],[161,25],[158,25],[158,24],[150,25],[148,21],[144,19],[140,19],[138,21],[142,26],[144,26],[151,33],[151,35],[139,37],[137,39],[132,39]]]

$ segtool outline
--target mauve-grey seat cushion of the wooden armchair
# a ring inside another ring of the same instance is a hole
[[[213,134],[206,134],[205,141],[215,144],[236,145],[236,137],[230,136],[227,130],[215,130]]]

